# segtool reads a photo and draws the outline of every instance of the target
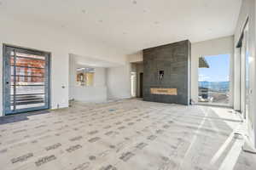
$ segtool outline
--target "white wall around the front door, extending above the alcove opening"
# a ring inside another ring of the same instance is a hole
[[[0,44],[8,43],[24,48],[34,48],[51,53],[51,108],[68,106],[68,63],[69,54],[80,54],[92,58],[114,61],[124,65],[126,56],[106,44],[86,41],[72,33],[45,25],[34,25],[0,16]],[[0,48],[3,54],[3,48]],[[0,62],[0,76],[3,77],[3,61]],[[128,79],[129,80],[129,79]],[[114,80],[113,80],[114,81]],[[61,88],[64,86],[65,88]],[[0,94],[3,96],[3,79],[0,80]],[[3,99],[0,98],[0,116],[3,115]]]

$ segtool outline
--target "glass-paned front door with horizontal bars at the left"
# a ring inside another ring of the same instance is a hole
[[[4,115],[49,109],[49,55],[3,46]]]

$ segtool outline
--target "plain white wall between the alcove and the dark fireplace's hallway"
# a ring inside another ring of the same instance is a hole
[[[131,98],[131,64],[107,68],[108,99]]]

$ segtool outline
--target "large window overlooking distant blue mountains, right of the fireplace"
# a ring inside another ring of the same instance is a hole
[[[230,54],[199,59],[199,103],[229,105]]]

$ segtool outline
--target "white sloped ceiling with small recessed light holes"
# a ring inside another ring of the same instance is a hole
[[[234,34],[241,0],[0,0],[0,16],[54,26],[132,54]]]

